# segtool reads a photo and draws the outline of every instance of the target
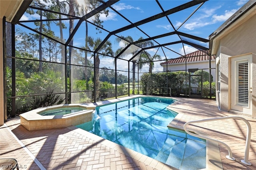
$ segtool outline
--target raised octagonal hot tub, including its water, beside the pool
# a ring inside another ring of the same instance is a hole
[[[92,121],[94,109],[82,104],[41,107],[20,114],[20,124],[29,131],[75,126]]]

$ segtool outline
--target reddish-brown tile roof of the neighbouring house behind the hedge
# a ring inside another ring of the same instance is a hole
[[[195,61],[208,61],[209,55],[198,50],[198,51],[194,51],[192,53],[187,54],[186,58],[187,58],[187,63],[195,62]],[[170,59],[167,61],[167,63],[168,64],[185,63],[186,58],[185,58],[185,56],[181,56],[176,59]],[[211,60],[215,60],[215,55],[211,56]],[[160,65],[163,65],[163,64],[166,64],[166,62],[160,63]]]

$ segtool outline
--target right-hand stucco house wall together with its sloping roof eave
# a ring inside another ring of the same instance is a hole
[[[220,62],[220,89],[216,89],[216,100],[221,110],[256,117],[256,8],[236,20],[213,39],[212,55],[216,55],[216,68]],[[252,113],[231,110],[232,70],[231,59],[252,55]],[[216,69],[217,71],[217,69]],[[218,78],[216,78],[216,84]]]

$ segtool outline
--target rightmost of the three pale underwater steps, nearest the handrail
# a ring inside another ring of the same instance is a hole
[[[189,168],[190,170],[197,170],[205,168],[205,154],[206,145],[203,141],[188,139],[183,160],[179,169],[187,170]]]

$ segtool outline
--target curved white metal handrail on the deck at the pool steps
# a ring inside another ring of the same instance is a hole
[[[249,157],[249,149],[250,149],[250,140],[251,140],[252,128],[251,128],[250,123],[246,119],[244,119],[243,117],[227,116],[227,117],[216,117],[216,118],[210,118],[210,119],[188,121],[187,123],[184,124],[184,131],[186,131],[186,133],[188,133],[189,135],[199,137],[199,138],[202,138],[202,139],[206,139],[206,140],[209,140],[209,141],[215,141],[215,142],[218,142],[218,143],[224,145],[228,149],[228,155],[226,156],[226,158],[228,158],[230,160],[235,160],[235,158],[232,157],[232,150],[230,149],[230,147],[228,147],[228,145],[226,143],[223,143],[223,142],[218,141],[216,139],[211,139],[211,138],[208,138],[208,137],[204,137],[202,135],[197,135],[197,134],[191,133],[190,131],[187,130],[187,126],[191,123],[202,123],[202,122],[217,121],[217,120],[222,120],[222,119],[240,119],[240,120],[242,120],[246,123],[246,125],[247,125],[246,147],[245,147],[245,152],[244,152],[244,160],[241,160],[241,162],[248,165],[248,166],[251,166],[252,164],[250,162],[248,162],[248,157]]]

